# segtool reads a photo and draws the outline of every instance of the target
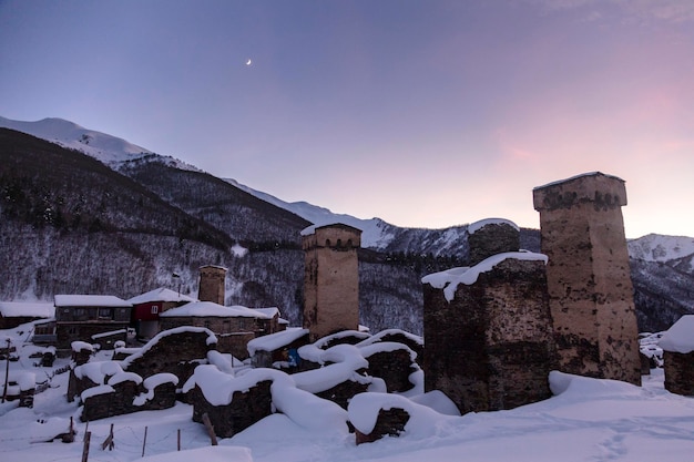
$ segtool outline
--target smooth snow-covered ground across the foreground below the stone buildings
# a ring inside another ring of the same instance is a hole
[[[18,331],[21,331],[20,335]],[[18,348],[19,361],[10,362],[10,373],[32,372],[42,381],[53,368],[34,367],[28,356],[38,350],[23,343],[27,327],[0,331]],[[96,360],[110,359],[99,352]],[[4,361],[1,363],[4,371]],[[2,373],[0,373],[2,374]],[[378,407],[408,405],[411,419],[400,438],[355,444],[344,425],[310,424],[312,407],[275,413],[231,439],[210,445],[203,425],[192,421],[192,407],[177,403],[164,411],[145,411],[90,422],[90,461],[630,461],[683,462],[694,454],[694,398],[663,389],[662,369],[644,376],[643,387],[595,380],[560,372],[549,378],[554,397],[510,411],[440,414],[417,402],[427,400],[365,393],[350,404],[355,424],[368,427]],[[0,460],[12,462],[76,461],[81,459],[86,424],[79,422],[76,403],[68,403],[68,374],[58,374],[47,391],[35,396],[33,409],[17,402],[0,404]],[[288,398],[288,397],[287,397]],[[412,398],[412,397],[410,397]],[[421,397],[420,397],[421,398]],[[302,396],[297,394],[297,400]],[[430,401],[430,400],[429,400]],[[290,403],[283,403],[287,409]],[[331,403],[328,403],[331,405]],[[297,419],[297,412],[299,413]],[[318,413],[316,413],[317,415]],[[67,431],[75,417],[74,443],[44,442]],[[113,424],[112,451],[101,443]],[[146,443],[145,443],[146,429]],[[177,434],[181,433],[181,452]],[[145,444],[143,444],[145,443]],[[142,458],[144,448],[145,459]]]

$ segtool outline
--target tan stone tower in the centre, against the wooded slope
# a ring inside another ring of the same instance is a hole
[[[310,341],[340,330],[359,328],[361,230],[334,224],[302,232],[306,256],[304,328]]]

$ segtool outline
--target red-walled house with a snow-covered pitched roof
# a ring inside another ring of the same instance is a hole
[[[159,317],[162,312],[196,300],[187,295],[181,295],[180,291],[160,287],[127,301],[133,305],[132,324],[135,326],[137,338],[151,339],[161,331]]]

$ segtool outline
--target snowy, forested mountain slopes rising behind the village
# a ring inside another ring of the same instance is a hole
[[[0,126],[7,121],[0,117]],[[159,286],[171,286],[172,271],[182,275],[184,292],[194,295],[197,268],[220,264],[229,268],[227,302],[279,306],[286,317],[297,324],[300,321],[304,258],[299,232],[310,224],[347,222],[364,229],[365,248],[360,249],[359,263],[361,322],[374,328],[394,327],[394,319],[397,319],[399,326],[395,327],[418,332],[421,276],[460,266],[467,260],[468,225],[442,229],[399,228],[379,218],[335,214],[306,202],[286,203],[122,138],[103,133],[95,136],[93,131],[68,121],[49,119],[19,124],[25,130],[35,126],[32,124],[42,125],[44,135],[52,136],[48,141],[58,143],[58,148],[76,148],[72,154],[55,154],[62,155],[65,161],[61,162],[65,165],[58,162],[55,172],[41,173],[44,171],[40,168],[40,152],[52,148],[38,148],[38,141],[11,135],[20,147],[23,146],[28,158],[39,166],[31,167],[33,171],[27,166],[16,167],[12,173],[4,162],[0,214],[9,219],[4,219],[6,233],[0,236],[3,249],[0,265],[17,269],[16,275],[6,275],[7,284],[0,288],[0,297],[4,299],[45,297],[55,290],[109,291],[132,297]],[[53,131],[48,131],[47,125]],[[60,133],[60,127],[71,134]],[[82,140],[84,135],[92,136],[86,144]],[[78,136],[78,140],[70,136]],[[108,146],[115,151],[109,152]],[[32,153],[32,150],[38,152]],[[141,151],[133,153],[137,150]],[[80,189],[75,195],[68,187],[70,184],[89,182],[96,172],[104,172],[96,164],[79,160],[75,153],[105,164],[112,175],[119,175],[113,176],[113,184],[134,182],[137,187],[113,189],[113,186],[95,183],[92,189]],[[0,156],[8,155],[0,152]],[[88,166],[80,174],[82,179],[70,179],[67,160]],[[68,171],[52,181],[50,188],[41,188],[40,182],[31,179],[42,175],[51,178],[53,173],[65,168]],[[8,197],[24,202],[13,203]],[[96,222],[100,226],[89,227],[82,223],[82,228],[73,229],[65,225],[65,218],[69,223],[74,219],[70,207],[78,207],[80,201],[85,202],[82,207],[86,211],[81,219],[93,222],[94,214],[102,214]],[[136,214],[130,216],[140,203],[160,206],[150,207],[149,215],[140,218]],[[123,204],[135,206],[123,208]],[[161,215],[163,209],[178,212]],[[57,211],[62,216],[58,226]],[[160,215],[161,218],[155,218]],[[172,218],[176,216],[178,218]],[[122,226],[134,218],[142,224],[130,228]],[[90,243],[90,248],[85,248],[84,243]],[[629,240],[632,280],[643,329],[657,330],[682,314],[694,312],[688,290],[694,286],[694,249],[688,254],[694,247],[692,243],[692,238],[662,235]],[[237,251],[239,247],[249,251]],[[522,228],[521,248],[539,251],[539,230]],[[31,255],[31,258],[22,258],[22,255]],[[100,260],[109,260],[110,265],[95,266],[94,261]],[[72,268],[80,266],[88,266],[90,270]]]

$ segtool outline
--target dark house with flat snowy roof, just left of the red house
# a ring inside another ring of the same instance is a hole
[[[133,309],[129,301],[112,295],[57,295],[54,306],[59,352],[71,351],[78,340],[99,339],[102,348],[109,348],[126,338]]]

